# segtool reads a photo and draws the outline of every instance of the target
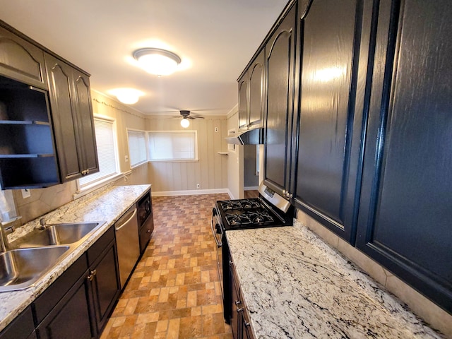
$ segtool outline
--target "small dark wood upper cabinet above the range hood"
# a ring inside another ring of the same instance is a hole
[[[263,127],[265,107],[265,51],[250,62],[239,78],[239,129]]]

